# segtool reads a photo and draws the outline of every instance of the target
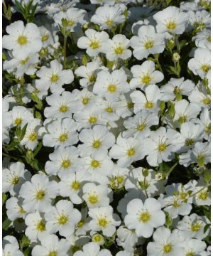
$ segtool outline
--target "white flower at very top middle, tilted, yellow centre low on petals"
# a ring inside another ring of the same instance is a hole
[[[123,14],[125,9],[126,6],[124,5],[108,6],[106,4],[96,9],[90,21],[98,24],[102,29],[109,29],[125,21]]]

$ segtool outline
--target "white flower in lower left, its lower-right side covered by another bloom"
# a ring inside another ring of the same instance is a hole
[[[69,197],[72,203],[82,203],[82,186],[90,181],[89,174],[86,171],[77,171],[75,173],[65,172],[60,174],[59,193],[60,196]]]

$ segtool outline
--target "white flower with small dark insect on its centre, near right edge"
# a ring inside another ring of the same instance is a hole
[[[195,90],[195,84],[184,78],[171,78],[168,83],[160,87],[160,92],[163,92],[162,100],[166,102],[175,100],[175,97],[180,95],[190,96],[192,90]]]

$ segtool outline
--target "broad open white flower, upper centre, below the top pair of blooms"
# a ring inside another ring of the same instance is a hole
[[[129,91],[129,84],[126,82],[127,76],[124,70],[114,70],[109,73],[102,70],[97,75],[94,83],[93,92],[101,97],[106,97],[110,102],[116,100],[121,93]]]

